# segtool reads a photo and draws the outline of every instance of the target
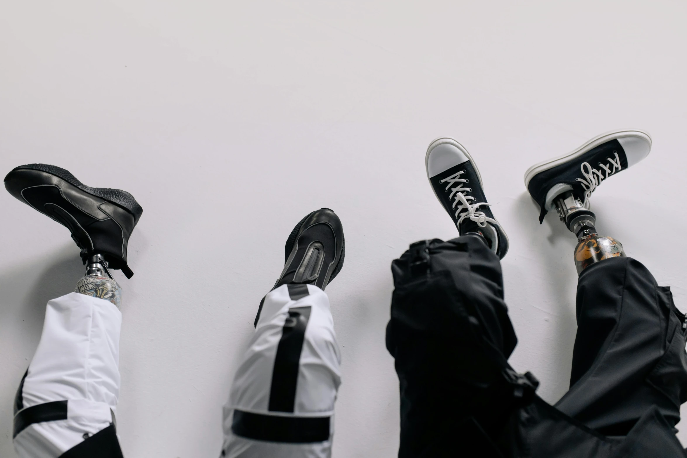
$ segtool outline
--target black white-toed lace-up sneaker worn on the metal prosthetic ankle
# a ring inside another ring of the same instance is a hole
[[[642,130],[618,130],[587,141],[564,156],[540,162],[525,172],[525,186],[539,204],[543,222],[556,209],[554,199],[575,192],[589,208],[589,196],[602,180],[638,163],[651,151],[651,137]]]

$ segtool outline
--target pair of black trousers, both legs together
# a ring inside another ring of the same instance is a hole
[[[523,407],[508,380],[515,334],[499,261],[480,240],[414,244],[392,271],[399,457],[685,456],[671,431],[686,393],[684,317],[642,264],[604,260],[581,275],[559,409],[539,398]]]

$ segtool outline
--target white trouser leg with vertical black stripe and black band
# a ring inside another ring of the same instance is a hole
[[[222,456],[330,457],[340,364],[324,291],[269,292],[224,407]]]

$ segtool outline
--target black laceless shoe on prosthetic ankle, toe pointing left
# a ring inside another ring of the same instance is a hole
[[[20,201],[71,231],[84,263],[102,255],[109,268],[133,272],[126,264],[126,245],[143,209],[122,190],[90,187],[63,168],[27,164],[5,176],[5,188]]]

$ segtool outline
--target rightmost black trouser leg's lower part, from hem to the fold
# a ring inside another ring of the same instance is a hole
[[[582,272],[576,306],[570,391],[556,407],[605,435],[627,435],[652,407],[675,426],[687,400],[687,321],[670,289],[615,257]]]

